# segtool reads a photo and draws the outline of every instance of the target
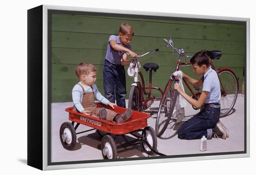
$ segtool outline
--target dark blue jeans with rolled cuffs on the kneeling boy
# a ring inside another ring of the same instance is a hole
[[[212,128],[219,121],[220,108],[205,106],[204,109],[186,121],[178,130],[178,137],[181,139],[200,139],[202,136],[210,139]]]

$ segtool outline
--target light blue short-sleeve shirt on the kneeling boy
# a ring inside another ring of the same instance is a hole
[[[221,87],[216,71],[209,67],[209,70],[203,75],[203,77],[202,91],[209,92],[204,103],[220,103]]]

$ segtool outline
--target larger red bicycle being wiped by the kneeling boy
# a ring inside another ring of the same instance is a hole
[[[173,50],[175,50],[176,53],[179,54],[179,59],[176,64],[175,71],[178,71],[180,66],[191,65],[191,63],[181,62],[182,57],[185,57],[185,58],[192,57],[192,56],[185,55],[184,49],[175,48],[171,38],[170,40],[164,39],[164,42],[167,43],[166,47],[171,47]],[[236,98],[237,98],[238,89],[239,89],[238,78],[236,74],[233,72],[233,70],[228,67],[222,67],[220,69],[216,69],[214,67],[213,60],[219,59],[222,56],[221,51],[219,50],[207,51],[207,54],[211,59],[210,67],[217,72],[217,75],[219,77],[220,86],[221,86],[221,117],[224,117],[230,113],[230,111],[233,109],[236,103]],[[175,107],[175,103],[178,95],[178,92],[174,89],[175,82],[178,82],[178,77],[171,75],[165,87],[162,100],[160,102],[156,123],[155,123],[155,132],[158,137],[162,136],[162,134],[166,130],[174,111],[174,107]],[[195,88],[198,91],[197,93],[195,93],[192,90],[192,88],[190,88],[188,82],[185,79],[183,79],[183,82],[189,88],[189,91],[192,94],[192,98],[198,100],[198,98],[201,95],[200,89]],[[194,106],[193,108],[197,109]]]

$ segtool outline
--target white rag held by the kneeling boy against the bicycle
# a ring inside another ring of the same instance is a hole
[[[178,76],[179,78],[179,84],[184,91],[183,83],[182,83],[182,71],[175,71],[173,73],[174,76]],[[182,97],[182,95],[178,95],[176,104],[173,111],[173,117],[176,117],[176,123],[180,123],[182,121],[182,118],[185,117],[185,109],[184,107],[187,105],[187,100]]]

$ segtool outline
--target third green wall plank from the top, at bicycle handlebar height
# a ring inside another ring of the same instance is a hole
[[[145,52],[136,51],[138,55]],[[186,53],[193,56],[195,53]],[[106,55],[106,50],[96,49],[71,49],[71,48],[53,48],[52,63],[53,64],[78,64],[88,62],[91,64],[103,65]],[[243,67],[243,55],[223,54],[219,60],[215,60],[216,66],[228,67]],[[139,58],[140,63],[156,63],[159,66],[175,65],[178,60],[178,54],[175,52],[158,51],[142,58]],[[189,62],[189,58],[182,58],[182,62]]]

